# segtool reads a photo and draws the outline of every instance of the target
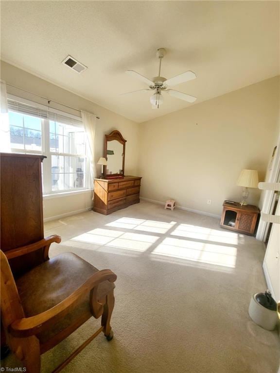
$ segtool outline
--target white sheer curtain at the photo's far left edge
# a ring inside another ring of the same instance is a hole
[[[11,151],[11,146],[7,89],[6,83],[3,80],[0,80],[0,93],[0,152],[9,153]]]

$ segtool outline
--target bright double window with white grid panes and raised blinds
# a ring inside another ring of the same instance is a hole
[[[13,100],[8,100],[8,107],[11,151],[47,156],[42,163],[43,193],[87,188],[89,165],[81,120]]]

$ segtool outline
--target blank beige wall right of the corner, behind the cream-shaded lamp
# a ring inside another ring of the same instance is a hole
[[[239,201],[242,169],[264,180],[279,132],[279,83],[268,79],[142,123],[141,196],[214,215],[225,199]],[[251,189],[249,203],[259,199]]]

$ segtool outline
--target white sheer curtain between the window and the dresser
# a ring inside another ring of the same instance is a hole
[[[93,114],[89,114],[82,111],[82,121],[84,124],[85,132],[88,137],[89,153],[90,153],[90,186],[93,187],[93,179],[96,175],[96,166],[94,159],[94,143],[95,143],[95,129],[96,129],[96,117]]]

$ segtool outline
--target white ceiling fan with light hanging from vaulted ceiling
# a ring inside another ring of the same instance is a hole
[[[186,72],[183,72],[182,74],[176,75],[175,77],[171,79],[163,78],[162,76],[160,76],[160,68],[161,68],[161,60],[165,56],[165,54],[166,54],[166,50],[164,48],[159,48],[157,50],[157,58],[159,58],[159,70],[158,70],[158,76],[156,76],[153,80],[150,80],[146,78],[145,76],[133,70],[125,71],[127,74],[139,79],[141,82],[146,83],[149,86],[149,88],[122,93],[122,95],[128,95],[128,94],[137,93],[137,92],[153,91],[154,93],[150,97],[150,102],[152,104],[153,109],[156,109],[156,108],[158,109],[159,105],[163,103],[162,93],[168,93],[170,96],[176,97],[177,99],[184,100],[187,102],[194,102],[196,100],[196,97],[187,95],[186,93],[183,93],[183,92],[175,91],[174,89],[169,89],[169,87],[195,79],[196,78],[195,73],[192,71],[186,71]]]

